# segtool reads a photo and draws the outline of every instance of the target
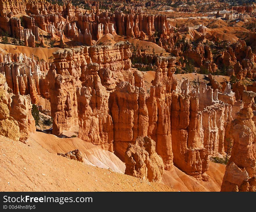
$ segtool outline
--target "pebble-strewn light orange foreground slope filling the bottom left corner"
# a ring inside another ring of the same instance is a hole
[[[0,191],[173,191],[0,136]]]

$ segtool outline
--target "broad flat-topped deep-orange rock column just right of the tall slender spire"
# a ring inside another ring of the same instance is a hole
[[[171,130],[173,163],[189,175],[201,178],[209,168],[209,160],[200,132],[202,114],[198,113],[198,104],[196,96],[173,96]]]

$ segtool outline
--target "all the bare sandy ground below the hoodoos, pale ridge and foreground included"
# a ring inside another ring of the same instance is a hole
[[[204,182],[175,167],[156,184],[124,175],[125,164],[115,154],[79,138],[36,132],[27,146],[0,136],[0,147],[0,191],[220,191],[225,172],[224,165],[210,162]],[[57,155],[74,149],[84,163]]]

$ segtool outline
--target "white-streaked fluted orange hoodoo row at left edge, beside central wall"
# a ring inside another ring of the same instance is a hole
[[[49,89],[44,72],[49,64],[38,61],[25,54],[0,54],[0,73],[6,77],[8,87],[13,94],[30,95],[33,104],[39,103],[38,95],[49,98]]]

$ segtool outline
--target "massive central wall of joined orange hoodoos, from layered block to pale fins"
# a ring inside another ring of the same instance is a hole
[[[139,136],[148,136],[165,169],[174,164],[207,180],[208,155],[224,153],[225,129],[239,110],[230,85],[224,93],[204,83],[194,89],[188,80],[173,78],[175,58],[160,56],[147,94],[143,74],[131,69],[129,45],[54,53],[46,76],[54,85],[49,86],[53,133],[79,125],[81,139],[115,152],[123,161],[127,148]]]

